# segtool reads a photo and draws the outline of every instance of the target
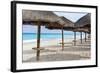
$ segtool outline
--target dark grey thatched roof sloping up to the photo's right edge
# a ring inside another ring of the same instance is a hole
[[[75,23],[75,27],[90,27],[90,26],[91,26],[90,13],[86,14]]]

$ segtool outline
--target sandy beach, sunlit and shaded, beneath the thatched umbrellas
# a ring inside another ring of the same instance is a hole
[[[83,39],[83,43],[77,40],[74,46],[73,39],[64,40],[64,50],[62,51],[61,39],[41,40],[41,47],[44,49],[40,52],[40,62],[45,61],[64,61],[64,60],[86,60],[91,57],[90,39]],[[36,50],[32,49],[37,46],[36,40],[23,42],[23,62],[37,62]]]

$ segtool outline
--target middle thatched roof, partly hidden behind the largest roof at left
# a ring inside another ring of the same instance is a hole
[[[65,18],[64,16],[60,17],[63,21],[64,21],[64,25],[63,25],[63,29],[64,30],[73,30],[74,28],[74,23],[72,21],[70,21],[69,19]],[[47,26],[46,28],[48,29],[61,29],[61,27],[50,27]]]

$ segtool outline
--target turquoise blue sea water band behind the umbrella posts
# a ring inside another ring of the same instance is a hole
[[[79,35],[79,34],[77,34]],[[73,33],[64,34],[64,38],[73,38]],[[61,33],[41,33],[41,39],[57,39],[62,38]],[[23,33],[23,40],[37,39],[36,33]]]

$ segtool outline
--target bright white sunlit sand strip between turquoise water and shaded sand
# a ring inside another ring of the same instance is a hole
[[[64,42],[72,42],[73,39],[64,40]],[[47,39],[41,40],[41,47],[61,45],[61,39]],[[23,50],[29,50],[37,46],[37,40],[28,40],[23,42]]]

